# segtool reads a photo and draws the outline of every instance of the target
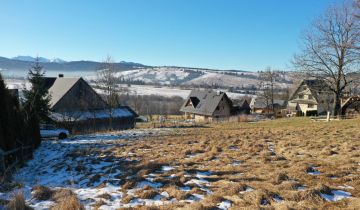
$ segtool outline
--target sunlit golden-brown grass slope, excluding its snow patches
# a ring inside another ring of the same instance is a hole
[[[156,170],[157,164],[177,166],[175,171],[163,175],[175,173],[178,177],[163,188],[173,197],[186,196],[175,188],[187,181],[184,172],[214,172],[208,178],[214,194],[195,204],[163,208],[207,209],[227,199],[233,202],[233,209],[357,209],[360,207],[359,128],[359,119],[326,123],[291,118],[212,124],[208,128],[179,129],[171,135],[119,148],[115,153],[131,151],[142,160],[133,166],[143,169],[137,173],[138,177]],[[271,144],[274,153],[269,151]],[[189,159],[188,154],[199,155]],[[231,165],[234,161],[241,164]],[[312,166],[317,167],[320,175],[306,172]],[[162,177],[157,181],[166,182]],[[353,198],[326,202],[319,196],[344,184],[354,187],[343,189],[352,193]],[[245,186],[255,190],[239,193]],[[298,191],[298,186],[306,186],[306,190]],[[192,191],[199,190],[195,187]],[[282,197],[284,202],[276,203],[272,199],[274,195]],[[260,205],[262,200],[267,200],[269,205]]]

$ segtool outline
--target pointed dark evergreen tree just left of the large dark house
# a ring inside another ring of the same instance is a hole
[[[45,87],[45,71],[40,65],[39,58],[29,69],[28,80],[31,83],[31,89],[24,91],[23,107],[26,115],[26,122],[29,130],[33,133],[34,145],[38,147],[41,143],[39,124],[47,119],[49,114],[50,96]]]

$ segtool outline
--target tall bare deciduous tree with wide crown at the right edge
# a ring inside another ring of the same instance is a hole
[[[341,114],[341,97],[359,72],[360,21],[355,7],[330,7],[304,33],[302,52],[293,64],[309,77],[321,79],[335,95],[334,114]]]

